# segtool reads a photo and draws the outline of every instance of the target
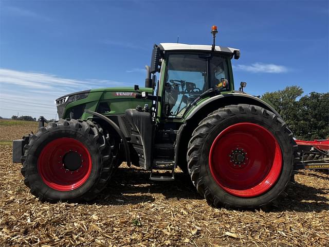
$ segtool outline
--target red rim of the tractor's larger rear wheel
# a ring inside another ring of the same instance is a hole
[[[282,153],[276,138],[255,123],[236,123],[214,140],[209,167],[216,183],[237,197],[255,197],[279,179]]]

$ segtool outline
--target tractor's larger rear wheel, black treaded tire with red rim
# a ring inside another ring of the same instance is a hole
[[[284,121],[255,105],[229,105],[199,123],[188,146],[197,191],[220,207],[259,208],[292,178],[297,145]]]

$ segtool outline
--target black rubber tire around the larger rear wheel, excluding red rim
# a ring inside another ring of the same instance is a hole
[[[232,105],[230,107],[233,108],[232,111],[234,111],[234,108],[237,106]],[[204,165],[200,165],[199,177],[202,179],[202,183],[204,183],[205,190],[207,190],[205,192],[213,196],[212,202],[225,202],[224,204],[228,206],[233,205],[234,207],[259,207],[275,200],[290,181],[291,172],[293,169],[293,160],[290,155],[292,153],[289,145],[290,142],[285,133],[282,131],[282,126],[278,124],[278,122],[273,121],[273,119],[275,119],[275,114],[268,112],[268,117],[264,117],[260,114],[262,111],[259,109],[257,114],[253,114],[249,111],[239,114],[238,111],[234,111],[235,114],[230,116],[225,114],[225,109],[221,109],[219,111],[224,113],[221,115],[225,116],[224,119],[211,128],[211,131],[205,135],[204,142],[200,147],[199,163]],[[225,191],[214,180],[209,167],[209,152],[214,139],[226,128],[241,122],[255,123],[267,129],[276,138],[282,152],[282,169],[276,184],[262,195],[252,198],[237,197]]]

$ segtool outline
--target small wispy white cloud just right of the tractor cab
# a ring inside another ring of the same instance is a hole
[[[288,72],[288,68],[283,65],[265,64],[265,63],[253,63],[251,65],[234,65],[234,69],[243,70],[252,73],[285,73]]]

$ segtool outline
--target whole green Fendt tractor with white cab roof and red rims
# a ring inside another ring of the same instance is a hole
[[[243,91],[245,82],[234,90],[231,59],[240,51],[215,46],[216,26],[211,33],[212,45],[154,45],[145,87],[58,98],[58,121],[13,141],[31,193],[92,200],[126,162],[153,181],[173,181],[180,167],[215,207],[259,208],[286,195],[293,134],[269,103]]]

